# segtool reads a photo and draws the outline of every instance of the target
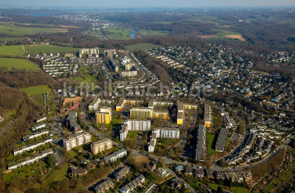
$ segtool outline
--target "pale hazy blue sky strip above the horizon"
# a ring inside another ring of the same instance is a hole
[[[224,6],[295,6],[294,0],[11,0],[14,5],[81,7],[224,7]]]

